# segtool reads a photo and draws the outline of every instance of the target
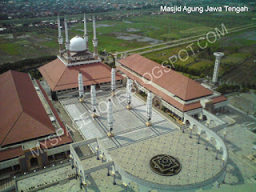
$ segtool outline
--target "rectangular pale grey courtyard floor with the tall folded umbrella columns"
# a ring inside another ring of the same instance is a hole
[[[114,138],[107,138],[109,132],[106,119],[106,103],[108,98],[113,102]],[[85,102],[81,103],[78,98],[62,100],[70,118],[73,119],[78,130],[85,139],[100,138],[107,150],[114,150],[122,146],[130,145],[134,142],[142,141],[146,138],[154,138],[160,134],[177,131],[178,126],[170,123],[157,111],[153,110],[153,126],[147,127],[146,104],[136,96],[132,96],[132,110],[126,109],[126,89],[118,89],[116,96],[111,97],[106,90],[97,91],[97,113],[98,118],[91,117],[90,93],[86,93]],[[94,146],[92,147],[94,150]]]

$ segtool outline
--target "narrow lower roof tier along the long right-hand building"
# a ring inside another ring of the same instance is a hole
[[[193,102],[191,104],[184,105],[184,104],[176,101],[174,98],[171,98],[169,95],[163,93],[161,90],[158,90],[154,86],[151,86],[150,84],[146,84],[145,82],[142,81],[142,79],[137,78],[134,74],[131,74],[129,71],[124,69],[122,66],[118,66],[117,70],[122,71],[122,73],[126,74],[129,78],[135,80],[141,86],[144,86],[147,90],[150,90],[152,93],[160,96],[163,100],[170,103],[172,106],[174,106],[178,110],[181,110],[182,112],[186,112],[188,110],[194,110],[194,109],[198,109],[198,108],[202,107],[200,102]],[[213,100],[214,100],[213,101],[214,103],[217,103],[217,102],[226,101],[226,98],[224,96],[219,96],[217,98],[213,98]]]

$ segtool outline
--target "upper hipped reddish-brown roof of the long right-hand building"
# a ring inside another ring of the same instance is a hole
[[[198,82],[194,82],[192,79],[174,70],[160,66],[157,62],[153,62],[139,54],[131,54],[118,62],[128,67],[130,70],[142,76],[144,75],[145,78],[170,91],[170,93],[175,94],[178,98],[182,98],[184,101],[213,94],[211,90],[201,86]],[[160,70],[162,72],[160,72]],[[169,71],[165,72],[167,70]],[[148,73],[151,74],[152,79]],[[153,73],[154,75],[152,75]],[[160,76],[160,73],[162,73],[162,76],[157,78]]]

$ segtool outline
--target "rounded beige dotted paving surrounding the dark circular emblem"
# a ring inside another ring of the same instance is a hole
[[[206,181],[222,170],[221,154],[216,160],[216,149],[209,146],[209,150],[205,150],[205,147],[204,141],[197,144],[196,135],[189,138],[189,130],[185,134],[175,131],[110,150],[110,156],[123,170],[149,182],[188,185]],[[166,177],[150,170],[150,159],[157,154],[169,154],[177,158],[182,164],[180,173]]]

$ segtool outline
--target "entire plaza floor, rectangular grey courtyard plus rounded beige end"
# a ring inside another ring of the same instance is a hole
[[[114,138],[106,136],[106,103],[109,98],[114,108]],[[63,99],[61,102],[83,136],[86,139],[99,138],[114,162],[136,177],[167,185],[186,185],[212,178],[222,169],[222,160],[215,160],[214,147],[205,150],[204,144],[196,144],[195,135],[189,138],[188,133],[182,134],[178,126],[156,110],[153,110],[151,120],[153,126],[147,127],[146,103],[133,95],[132,110],[127,110],[124,88],[118,89],[115,97],[111,97],[109,91],[98,90],[98,118],[90,115],[90,93],[86,93],[84,103],[78,98]],[[96,144],[90,146],[94,150]],[[182,163],[181,172],[171,178],[155,174],[150,170],[149,162],[156,154],[170,154],[178,158]],[[90,167],[88,163],[93,165],[97,160],[83,161],[85,167]]]

